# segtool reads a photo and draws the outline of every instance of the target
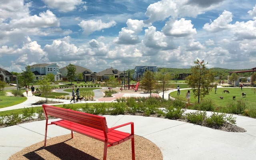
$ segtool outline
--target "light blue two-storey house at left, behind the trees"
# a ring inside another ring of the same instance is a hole
[[[36,76],[36,80],[38,80],[39,77],[45,76],[47,74],[54,74],[54,80],[58,81],[60,80],[60,73],[59,73],[60,67],[57,65],[57,63],[52,64],[34,64],[30,66],[30,71],[34,73]]]

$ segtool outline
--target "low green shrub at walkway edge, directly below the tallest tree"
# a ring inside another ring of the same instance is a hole
[[[202,122],[206,118],[206,112],[197,111],[197,112],[187,113],[186,118],[190,123],[202,124]]]

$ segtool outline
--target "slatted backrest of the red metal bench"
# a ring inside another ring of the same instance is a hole
[[[42,107],[46,119],[48,119],[47,116],[53,116],[56,118],[61,118],[64,120],[75,122],[84,126],[96,128],[98,130],[103,130],[104,132],[108,132],[106,118],[103,116],[78,112],[66,108],[49,106],[46,104],[43,104]]]

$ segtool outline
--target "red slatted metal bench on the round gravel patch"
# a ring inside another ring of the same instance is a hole
[[[91,138],[104,142],[104,156],[103,160],[107,158],[107,148],[115,146],[126,140],[131,139],[132,143],[132,160],[135,160],[134,148],[134,123],[128,122],[112,128],[108,128],[106,118],[94,114],[78,112],[70,109],[59,108],[42,105],[46,117],[44,146],[46,146],[47,126],[55,124],[57,126],[71,130],[71,137],[73,138],[73,131],[89,136]],[[48,124],[48,116],[60,118],[61,120],[54,121]],[[121,132],[116,130],[122,126],[131,125],[131,133]]]

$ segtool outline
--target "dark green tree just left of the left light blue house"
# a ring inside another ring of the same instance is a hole
[[[30,70],[30,66],[26,66],[26,71],[21,73],[21,77],[21,80],[18,79],[18,83],[21,87],[29,86],[29,84],[34,81],[34,73]]]

